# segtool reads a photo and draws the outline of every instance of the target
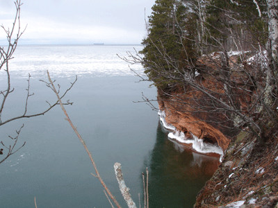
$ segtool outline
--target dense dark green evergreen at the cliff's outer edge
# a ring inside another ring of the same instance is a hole
[[[195,21],[181,1],[157,0],[152,10],[148,35],[142,42],[145,48],[140,51],[145,55],[142,64],[158,90],[170,91],[177,83],[165,78],[163,71],[172,73],[172,76],[183,76],[186,64],[197,60],[193,46]]]

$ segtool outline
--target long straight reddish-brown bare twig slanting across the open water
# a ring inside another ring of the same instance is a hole
[[[77,137],[79,137],[79,140],[81,141],[81,143],[83,144],[86,152],[88,153],[89,157],[90,157],[90,160],[92,162],[92,166],[94,166],[95,168],[95,171],[97,173],[97,178],[99,179],[99,181],[101,182],[102,186],[104,187],[104,189],[107,191],[108,195],[110,196],[110,198],[113,200],[113,202],[115,202],[115,205],[117,207],[121,207],[120,204],[117,202],[117,200],[115,199],[115,197],[112,195],[111,191],[109,191],[108,187],[106,186],[106,184],[104,183],[104,181],[102,180],[101,176],[99,175],[99,171],[97,170],[97,166],[94,162],[94,159],[92,159],[92,154],[90,153],[90,151],[88,150],[88,147],[86,146],[85,144],[85,141],[82,139],[81,135],[79,135],[79,132],[77,131],[76,127],[74,126],[74,124],[72,123],[72,121],[70,120],[70,117],[68,116],[67,114],[67,111],[65,110],[65,107],[60,99],[60,96],[58,95],[58,92],[54,86],[54,83],[52,82],[50,76],[49,76],[49,71],[47,71],[47,76],[48,76],[48,79],[49,79],[49,82],[51,84],[51,89],[55,92],[57,98],[58,98],[58,101],[60,103],[60,107],[62,108],[63,112],[65,113],[65,116],[67,117],[66,120],[69,121],[70,125],[72,126],[72,129],[74,130],[74,132],[76,133]],[[50,85],[49,85],[50,87]]]

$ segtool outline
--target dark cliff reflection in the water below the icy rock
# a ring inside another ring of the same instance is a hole
[[[167,138],[158,123],[149,155],[149,206],[193,207],[197,193],[219,165],[218,157],[193,153]]]

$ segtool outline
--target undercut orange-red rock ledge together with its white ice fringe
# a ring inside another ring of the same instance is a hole
[[[230,140],[213,125],[193,116],[190,112],[179,111],[173,100],[161,98],[158,94],[158,105],[161,122],[172,130],[168,137],[180,144],[204,155],[222,157]]]

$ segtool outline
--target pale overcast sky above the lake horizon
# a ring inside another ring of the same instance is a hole
[[[22,0],[19,44],[140,44],[155,0]],[[11,27],[13,0],[0,0],[0,24]],[[5,40],[0,31],[0,43]]]

